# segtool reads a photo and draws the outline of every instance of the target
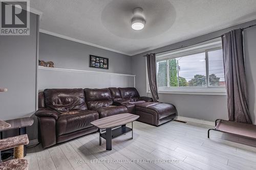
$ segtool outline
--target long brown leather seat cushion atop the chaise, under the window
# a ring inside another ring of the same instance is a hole
[[[176,108],[172,104],[159,102],[144,102],[135,104],[136,111],[157,114],[158,119],[176,113]]]

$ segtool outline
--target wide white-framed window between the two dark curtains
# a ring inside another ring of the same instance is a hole
[[[226,91],[221,41],[159,54],[156,61],[159,91]]]

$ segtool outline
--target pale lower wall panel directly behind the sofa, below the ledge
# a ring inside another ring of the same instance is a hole
[[[69,81],[67,81],[69,80]],[[38,69],[38,89],[134,87],[134,77],[68,70]]]

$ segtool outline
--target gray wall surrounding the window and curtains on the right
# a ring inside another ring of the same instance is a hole
[[[178,47],[193,45],[238,28],[244,28],[256,23],[256,20],[243,23],[238,26],[226,28],[220,31],[212,32],[203,36],[195,37],[178,43],[170,44],[155,50],[138,54],[132,57],[132,70],[136,75],[136,88],[141,95],[146,95],[146,60],[143,55],[146,53],[159,53],[167,50],[173,50]],[[255,123],[255,87],[256,81],[256,29],[250,28],[245,31],[245,58],[247,84],[249,89],[249,109]],[[173,103],[178,110],[179,116],[198,118],[214,121],[217,118],[227,119],[227,99],[225,95],[189,95],[189,94],[159,94],[161,102]]]

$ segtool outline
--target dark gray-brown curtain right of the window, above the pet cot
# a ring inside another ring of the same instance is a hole
[[[247,104],[247,88],[243,53],[243,33],[232,30],[222,36],[228,118],[251,124]]]

